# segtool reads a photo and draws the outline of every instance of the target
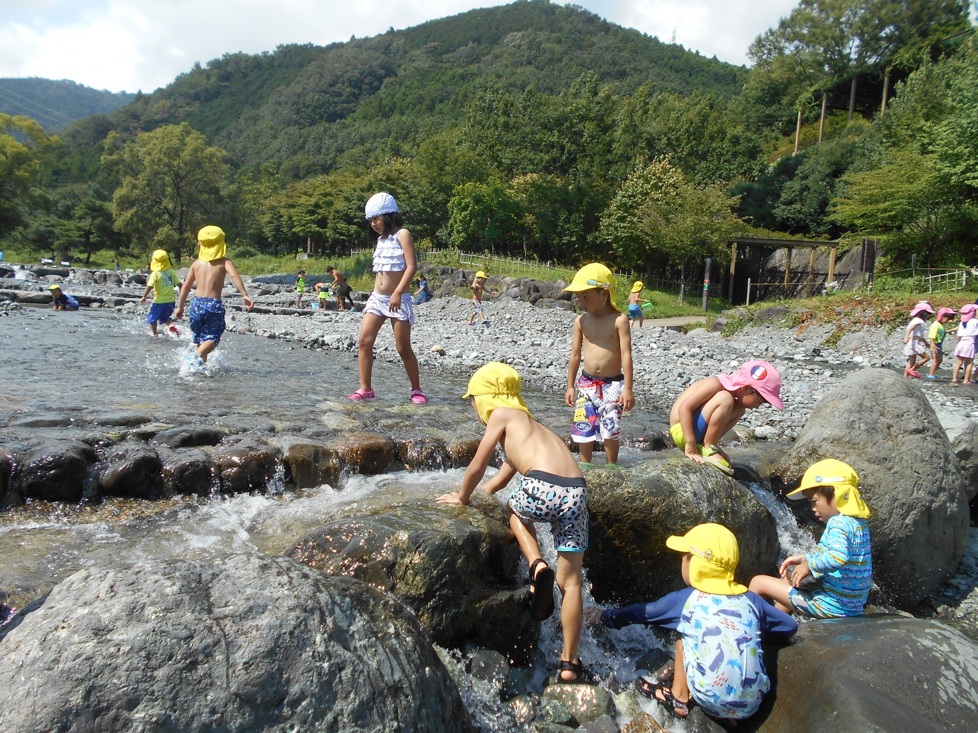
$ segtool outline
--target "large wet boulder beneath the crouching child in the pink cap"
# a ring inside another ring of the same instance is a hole
[[[738,582],[777,570],[778,528],[768,508],[717,469],[670,453],[628,470],[584,474],[591,515],[584,564],[600,603],[649,601],[682,588],[681,558],[666,538],[703,522],[722,524],[736,537]]]

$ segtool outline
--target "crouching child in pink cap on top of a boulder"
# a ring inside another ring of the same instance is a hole
[[[765,403],[784,410],[781,375],[767,362],[746,362],[733,374],[693,382],[669,412],[669,434],[676,448],[697,463],[710,463],[733,475],[730,459],[716,446],[743,417]],[[691,440],[695,438],[695,440]]]

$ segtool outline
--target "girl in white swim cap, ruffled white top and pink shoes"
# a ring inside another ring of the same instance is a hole
[[[374,250],[374,292],[364,307],[364,319],[360,324],[360,389],[350,395],[351,400],[373,400],[376,395],[371,387],[374,373],[374,342],[384,321],[390,320],[394,328],[394,343],[401,355],[404,368],[411,380],[411,402],[423,405],[427,400],[421,388],[418,358],[411,348],[411,325],[415,323],[415,311],[411,302],[411,280],[418,269],[415,257],[415,240],[404,229],[404,221],[398,213],[397,201],[390,194],[374,194],[367,201],[367,220],[378,234]]]

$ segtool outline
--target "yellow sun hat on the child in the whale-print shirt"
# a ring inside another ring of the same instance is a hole
[[[740,548],[733,532],[721,524],[698,524],[683,537],[673,535],[666,546],[689,552],[689,584],[696,590],[716,595],[739,595],[747,588],[733,580],[740,562]]]

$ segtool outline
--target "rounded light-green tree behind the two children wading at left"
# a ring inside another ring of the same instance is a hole
[[[140,133],[122,145],[119,135],[109,134],[103,161],[115,167],[121,184],[112,196],[115,227],[150,250],[157,235],[176,239],[177,262],[182,252],[193,256],[193,233],[221,204],[228,175],[225,152],[208,147],[203,135],[186,122],[163,125]]]

